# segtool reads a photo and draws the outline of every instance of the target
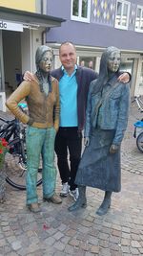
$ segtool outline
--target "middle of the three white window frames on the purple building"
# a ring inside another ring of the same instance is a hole
[[[116,24],[116,17],[117,17],[117,4],[121,3],[121,15],[120,15],[120,21],[121,21],[121,25]],[[122,25],[123,22],[123,11],[124,11],[124,5],[128,6],[128,12],[127,12],[127,24],[126,26]],[[115,10],[115,20],[114,20],[114,28],[116,29],[121,29],[121,30],[128,30],[129,27],[129,17],[130,17],[130,8],[131,8],[131,2],[128,1],[124,1],[124,0],[117,0],[116,1],[116,10]]]

